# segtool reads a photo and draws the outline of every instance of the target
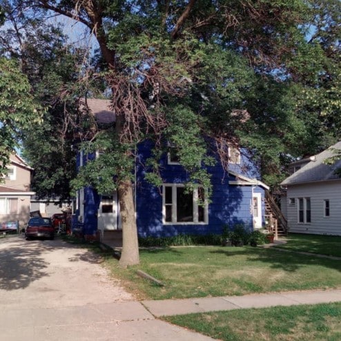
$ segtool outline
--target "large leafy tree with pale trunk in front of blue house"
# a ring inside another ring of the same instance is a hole
[[[84,23],[97,38],[98,65],[105,70],[117,122],[115,130],[99,130],[88,144],[94,150],[100,142],[107,153],[89,162],[75,185],[118,190],[122,266],[139,262],[131,168],[139,142],[154,141],[146,165],[150,181],[162,181],[157,159],[166,140],[191,174],[191,186],[209,188],[209,176],[198,164],[212,162],[211,142],[224,164],[226,145],[243,142],[272,169],[280,155],[297,148],[295,133],[303,137],[320,124],[311,108],[313,122],[297,115],[292,100],[295,92],[302,94],[300,86],[316,88],[315,78],[326,69],[325,39],[307,39],[309,25],[317,32],[326,27],[318,28],[315,14],[324,9],[319,1],[21,2]],[[334,21],[330,27],[335,28]],[[93,177],[94,172],[103,176]]]

